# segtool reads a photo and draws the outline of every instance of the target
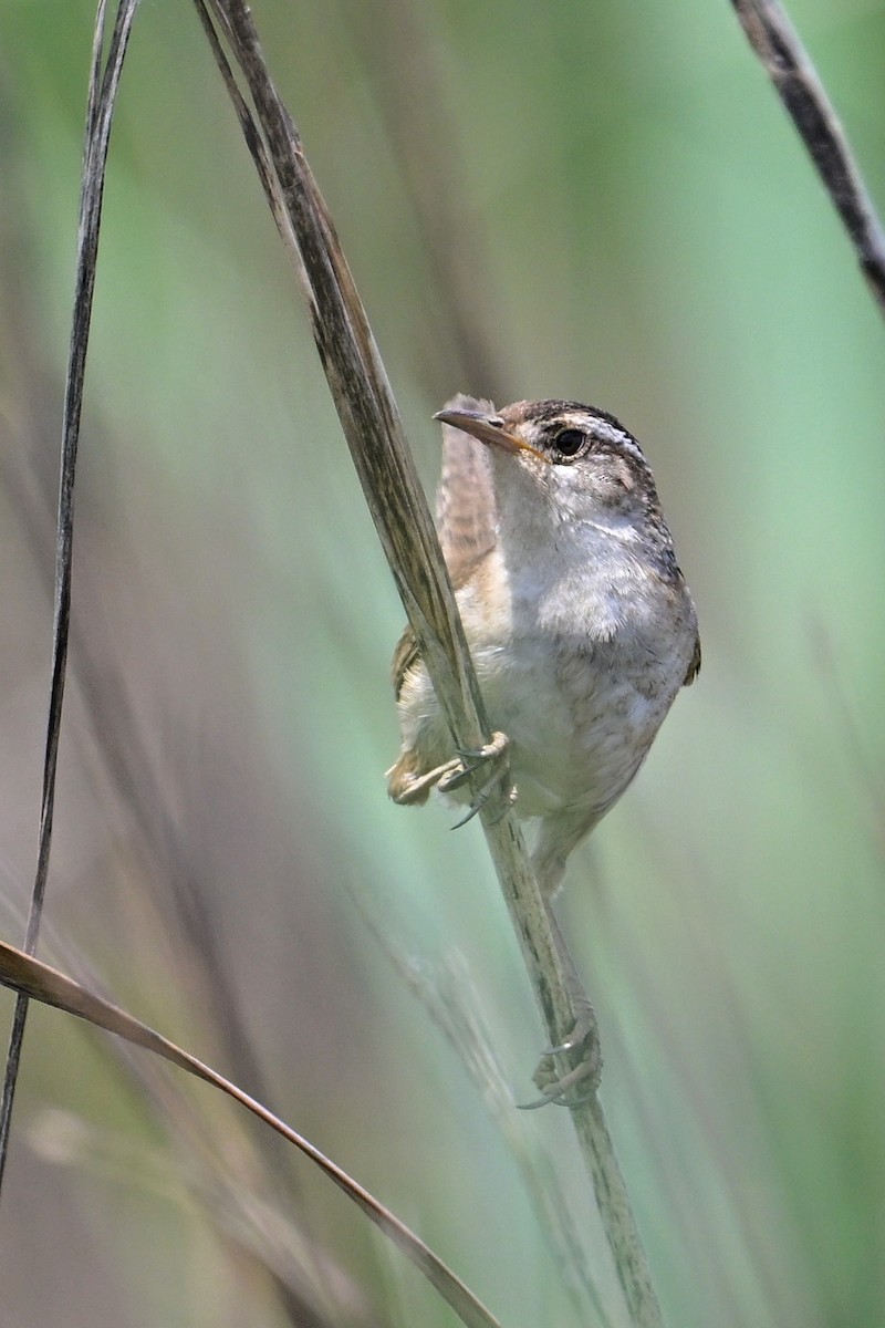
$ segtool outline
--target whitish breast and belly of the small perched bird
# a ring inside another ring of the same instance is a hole
[[[527,566],[519,576],[495,555],[484,584],[458,596],[527,817],[579,803],[601,814],[636,774],[691,657],[693,620],[671,587],[613,556],[610,540],[596,554],[569,559],[568,572],[548,560],[543,575]]]

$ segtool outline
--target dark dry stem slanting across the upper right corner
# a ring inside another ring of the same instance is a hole
[[[876,303],[885,313],[885,232],[815,66],[776,0],[731,3],[817,167]]]

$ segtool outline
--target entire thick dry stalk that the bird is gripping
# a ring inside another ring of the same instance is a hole
[[[491,730],[433,518],[372,329],[299,131],[269,77],[243,0],[206,4],[195,0],[195,4],[277,227],[296,260],[338,418],[454,745],[462,750],[480,748],[488,742]],[[253,118],[207,8],[248,86]],[[547,1035],[552,1045],[559,1045],[575,1027],[575,1011],[508,786],[488,797],[480,819]],[[598,1100],[575,1108],[572,1120],[632,1323],[636,1328],[659,1328],[661,1309]]]

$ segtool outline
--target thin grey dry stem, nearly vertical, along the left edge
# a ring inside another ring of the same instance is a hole
[[[46,746],[42,772],[42,801],[40,809],[40,841],[37,850],[37,871],[31,895],[31,911],[25,931],[25,951],[33,954],[40,935],[42,902],[49,874],[49,853],[52,847],[52,821],[56,803],[56,768],[58,762],[58,734],[61,732],[61,708],[65,696],[65,672],[68,665],[68,633],[70,623],[70,576],[73,566],[73,522],[74,522],[74,475],[77,469],[77,444],[80,441],[80,416],[82,408],[84,376],[86,371],[86,349],[89,347],[89,324],[92,319],[92,299],[96,284],[96,263],[98,258],[98,230],[101,226],[101,202],[105,189],[105,166],[110,142],[110,126],[114,116],[117,90],[123,68],[123,58],[131,32],[138,0],[121,0],[117,9],[114,31],[102,60],[105,44],[106,0],[100,0],[93,39],[93,58],[89,80],[89,100],[86,106],[86,142],[84,149],[82,186],[80,194],[80,226],[77,232],[77,276],[74,290],[74,312],[70,331],[70,351],[68,357],[68,381],[65,388],[65,413],[61,442],[61,479],[58,490],[58,526],[56,540],[56,604],[52,635],[52,684],[49,693],[49,716],[46,721]],[[0,1190],[5,1174],[9,1151],[9,1127],[12,1106],[19,1078],[19,1062],[24,1042],[28,999],[24,995],[16,1001],[9,1033],[9,1049],[3,1081],[3,1101],[0,1102]]]

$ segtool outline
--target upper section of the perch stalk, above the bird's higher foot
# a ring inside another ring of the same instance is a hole
[[[202,0],[196,4],[206,23]],[[490,736],[488,721],[468,664],[437,533],[362,304],[310,175],[297,129],[267,74],[248,11],[223,0],[211,9],[232,45],[255,102],[263,142],[251,118],[244,118],[241,94],[227,61],[219,60],[219,45],[214,40],[214,53],[277,226],[296,240],[299,276],[306,292],[317,349],[397,587],[422,648],[433,661],[434,676],[439,676],[443,704],[450,710],[459,745],[480,746]],[[269,181],[268,171],[272,173]],[[385,494],[398,501],[389,503]],[[429,572],[430,567],[434,574]],[[460,649],[455,649],[455,640]]]

